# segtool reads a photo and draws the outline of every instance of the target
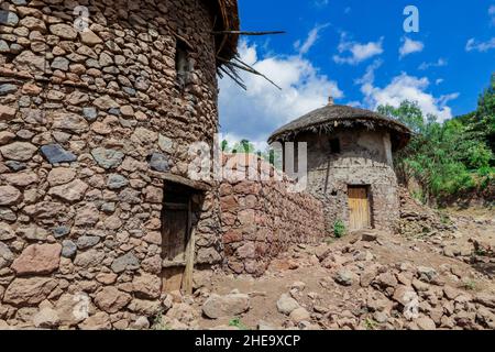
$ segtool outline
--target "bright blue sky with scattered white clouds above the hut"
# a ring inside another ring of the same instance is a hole
[[[243,75],[248,91],[220,81],[221,132],[256,146],[278,127],[326,105],[375,109],[417,100],[446,120],[475,109],[495,72],[495,0],[239,0],[243,61],[282,86]],[[404,31],[404,9],[419,32]]]

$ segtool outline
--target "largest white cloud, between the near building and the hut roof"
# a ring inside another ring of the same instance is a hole
[[[240,75],[248,86],[242,90],[229,77],[220,80],[220,124],[232,140],[248,139],[261,146],[277,128],[320,107],[328,97],[342,98],[338,84],[299,55],[258,57],[254,44],[241,41],[241,59],[266,74],[283,90],[258,76]]]

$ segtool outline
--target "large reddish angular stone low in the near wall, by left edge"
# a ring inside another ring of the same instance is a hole
[[[45,275],[58,270],[62,245],[32,244],[13,262],[12,270],[18,275]]]

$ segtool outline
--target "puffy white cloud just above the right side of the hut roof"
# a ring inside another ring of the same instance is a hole
[[[400,74],[381,88],[374,85],[374,72],[380,67],[376,62],[366,69],[366,74],[358,80],[364,95],[365,106],[375,110],[381,105],[398,107],[404,100],[417,101],[426,114],[435,114],[440,121],[452,119],[452,110],[447,106],[450,100],[457,99],[459,94],[450,94],[436,98],[427,92],[430,85],[428,78],[417,78]]]

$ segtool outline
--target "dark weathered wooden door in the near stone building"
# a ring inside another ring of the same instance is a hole
[[[180,290],[189,239],[188,204],[165,204],[162,230],[163,292]]]

